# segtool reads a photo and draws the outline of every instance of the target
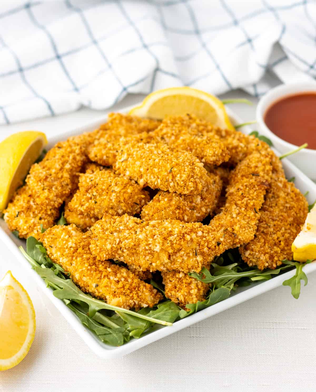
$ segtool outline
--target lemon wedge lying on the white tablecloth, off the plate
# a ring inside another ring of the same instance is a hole
[[[10,369],[29,352],[35,310],[29,295],[8,271],[0,281],[0,370]]]

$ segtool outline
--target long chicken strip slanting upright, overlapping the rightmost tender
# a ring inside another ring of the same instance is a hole
[[[260,209],[272,175],[271,154],[253,152],[231,172],[222,212],[210,221],[216,232],[216,254],[247,243],[254,238]]]

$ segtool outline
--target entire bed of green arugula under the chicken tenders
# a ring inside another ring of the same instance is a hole
[[[254,122],[240,124],[235,127],[238,128],[251,123]],[[260,135],[257,131],[252,131],[251,134],[272,146],[271,140]],[[298,149],[280,156],[280,159],[306,146],[305,143]],[[42,157],[39,158],[39,160],[41,159]],[[294,180],[294,177],[289,179],[289,181]],[[315,202],[309,205],[309,211],[314,207]],[[57,224],[67,225],[63,213]],[[43,227],[41,229],[42,232],[45,231]],[[13,234],[18,237],[17,231]],[[295,274],[292,278],[285,280],[283,286],[291,287],[292,296],[297,299],[300,296],[301,280],[303,280],[304,286],[307,285],[307,276],[303,267],[312,261],[307,260],[305,263],[298,263],[283,260],[279,268],[261,271],[249,267],[240,257],[238,248],[230,249],[213,260],[210,270],[203,268],[199,274],[196,272],[189,273],[192,278],[210,285],[205,301],[190,303],[186,305],[186,310],[181,309],[176,303],[165,298],[161,282],[151,279],[150,283],[162,292],[164,300],[153,309],[143,308],[136,312],[109,305],[82,292],[73,283],[71,276],[47,256],[42,243],[34,237],[27,238],[26,251],[23,247],[20,247],[20,250],[31,264],[31,267],[44,279],[47,287],[53,289],[54,296],[64,301],[65,305],[76,314],[82,324],[102,342],[113,346],[121,346],[131,338],[140,338],[159,327],[170,326],[175,321],[227,299],[231,292],[238,290],[239,287],[269,280],[274,275],[282,274],[291,269],[295,269]]]

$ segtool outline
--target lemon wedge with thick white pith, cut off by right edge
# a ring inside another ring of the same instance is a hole
[[[307,214],[304,226],[292,243],[296,261],[316,259],[316,205]]]

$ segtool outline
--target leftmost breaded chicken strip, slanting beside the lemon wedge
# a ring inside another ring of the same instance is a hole
[[[40,163],[32,165],[26,184],[16,192],[4,211],[11,231],[20,238],[38,237],[40,225],[51,227],[60,206],[76,187],[86,161],[84,147],[74,140],[57,143]]]

